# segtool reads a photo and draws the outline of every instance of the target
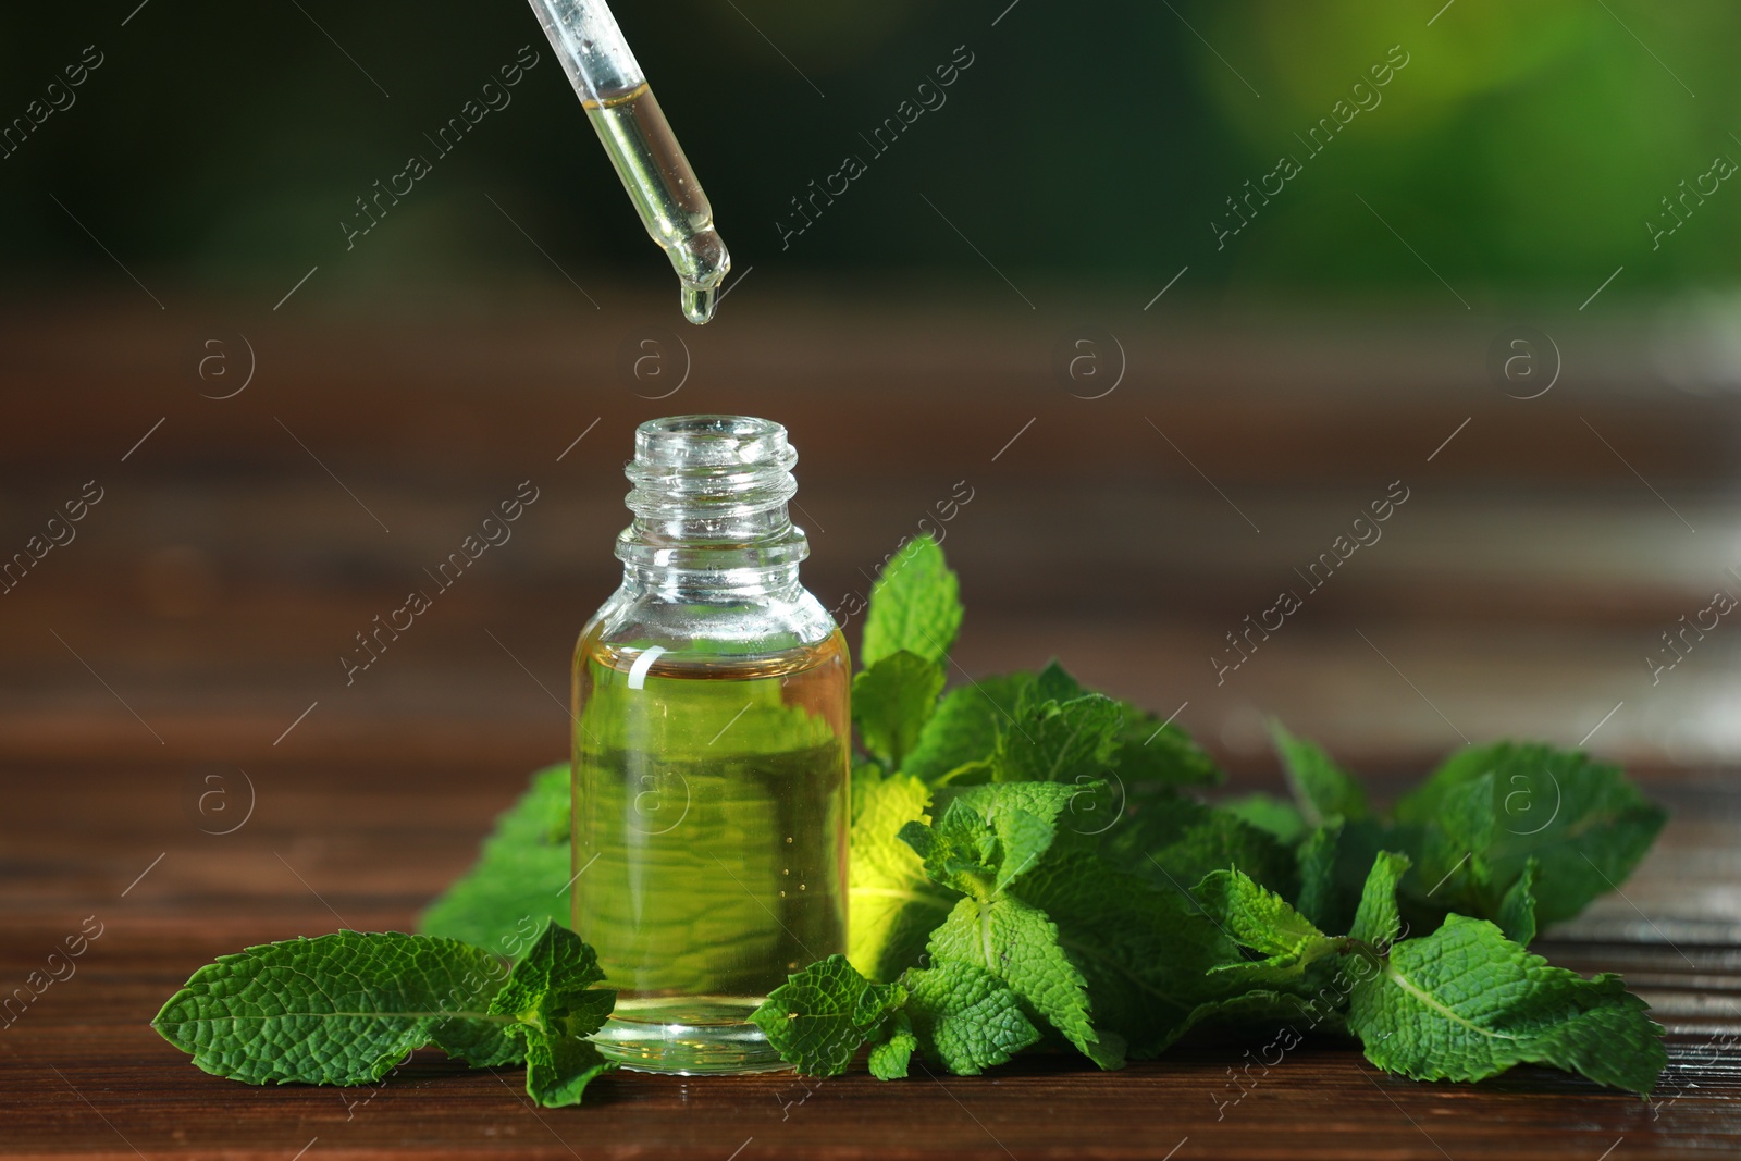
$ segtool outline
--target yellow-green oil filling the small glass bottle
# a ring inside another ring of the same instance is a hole
[[[846,646],[684,663],[575,653],[575,929],[625,1067],[783,1067],[749,1013],[846,949]]]

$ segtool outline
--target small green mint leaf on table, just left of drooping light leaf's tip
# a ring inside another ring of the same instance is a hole
[[[924,1055],[956,1076],[978,1076],[1039,1043],[1039,1029],[1017,994],[982,968],[951,961],[916,968],[902,983],[914,1039]],[[884,1064],[893,1062],[884,1058]]]

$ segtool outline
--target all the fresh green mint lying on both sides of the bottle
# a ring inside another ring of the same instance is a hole
[[[853,682],[848,956],[752,1017],[797,1070],[834,1076],[869,1048],[879,1079],[973,1076],[1039,1044],[1116,1069],[1196,1027],[1285,1023],[1417,1079],[1543,1064],[1650,1091],[1666,1057],[1644,1001],[1527,950],[1661,830],[1619,768],[1471,747],[1386,815],[1276,726],[1288,799],[1210,802],[1224,776],[1182,729],[1055,661],[945,693],[959,627],[942,550],[909,541],[872,588]],[[367,1084],[435,1046],[526,1064],[540,1104],[576,1104],[611,1067],[588,1037],[615,992],[557,923],[568,811],[566,768],[540,771],[423,935],[223,956],[158,1030],[251,1083]]]

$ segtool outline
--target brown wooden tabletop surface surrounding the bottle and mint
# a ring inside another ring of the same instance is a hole
[[[1741,407],[1664,381],[1644,327],[1549,319],[1565,374],[1518,400],[1485,367],[1509,319],[1353,332],[1151,319],[1140,298],[1085,308],[1083,327],[926,303],[853,319],[759,303],[752,282],[729,319],[682,332],[681,390],[648,399],[667,381],[630,376],[623,352],[655,338],[677,360],[663,294],[357,319],[169,298],[162,313],[118,299],[0,315],[0,560],[85,480],[104,489],[77,538],[0,594],[0,987],[87,916],[104,924],[77,975],[0,1029],[0,1152],[1741,1151],[1741,630],[1689,637],[1673,668],[1645,660],[1671,660],[1661,635],[1717,588],[1741,595]],[[1086,329],[1128,360],[1100,399],[1057,371]],[[254,378],[212,399],[244,381],[245,346]],[[218,352],[228,362],[200,378]],[[1532,1069],[1414,1084],[1328,1041],[1220,1119],[1241,1046],[1112,1076],[1065,1060],[851,1076],[808,1097],[790,1077],[625,1074],[559,1112],[528,1109],[512,1070],[439,1057],[364,1105],[195,1070],[145,1023],[193,968],[341,924],[406,928],[526,771],[562,754],[568,651],[616,580],[632,426],[684,411],[792,428],[806,576],[829,606],[865,592],[965,480],[944,543],[968,606],[956,675],[1057,654],[1177,712],[1234,789],[1274,780],[1267,715],[1393,789],[1461,736],[1583,740],[1628,762],[1675,818],[1624,896],[1541,950],[1621,970],[1654,1004],[1673,1034],[1656,1100]],[[526,479],[540,498],[514,538],[346,684],[353,634]],[[1295,569],[1393,480],[1408,501],[1382,540],[1217,681],[1224,635],[1304,590]]]

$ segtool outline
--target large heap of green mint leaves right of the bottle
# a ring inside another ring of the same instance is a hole
[[[834,1072],[870,1044],[879,1077],[912,1055],[971,1074],[1050,1037],[1118,1067],[1203,1023],[1304,1018],[1407,1076],[1537,1062],[1649,1091],[1661,1029],[1642,1001],[1525,950],[1539,924],[1624,881],[1663,825],[1616,768],[1478,747],[1384,816],[1321,747],[1276,726],[1292,801],[1212,804],[1194,792],[1220,771],[1180,729],[1057,663],[938,698],[947,654],[900,654],[919,653],[919,635],[891,627],[930,611],[951,630],[924,641],[952,639],[956,581],[935,545],[902,555],[921,567],[874,590],[870,668],[855,686],[869,698],[855,971],[834,964],[827,987],[843,989],[836,1004],[877,982],[905,999],[874,1029],[836,1022],[827,1058],[794,1053],[794,1065]],[[1459,989],[1489,982],[1509,1006],[1457,1006]],[[815,989],[782,989],[763,1013],[803,1022],[817,1003]],[[1631,1064],[1598,1065],[1598,1043]]]

